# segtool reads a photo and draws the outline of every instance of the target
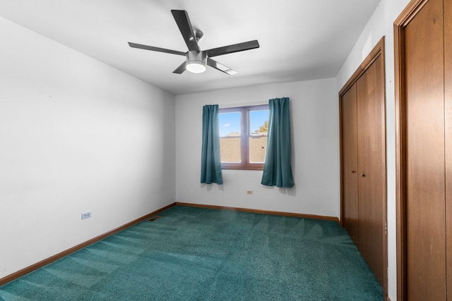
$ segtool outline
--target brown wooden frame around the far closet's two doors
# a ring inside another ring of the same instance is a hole
[[[387,225],[388,225],[388,192],[387,192],[387,164],[386,164],[386,80],[385,80],[385,51],[384,51],[384,36],[381,37],[378,43],[376,43],[374,49],[372,49],[369,53],[369,55],[362,61],[362,63],[359,65],[357,70],[355,70],[355,73],[350,77],[349,80],[345,83],[343,88],[339,91],[339,141],[342,143],[343,141],[343,121],[342,121],[342,99],[343,96],[347,93],[347,91],[352,87],[352,85],[357,82],[357,80],[363,75],[367,69],[371,66],[376,59],[378,59],[380,56],[383,59],[383,85],[384,85],[384,92],[383,92],[383,105],[381,108],[382,116],[383,116],[383,166],[384,166],[384,173],[385,178],[383,181],[383,224],[386,226],[386,231],[384,233],[384,237],[386,239],[383,240],[383,293],[385,295],[385,298],[388,299],[388,235],[387,235]],[[340,226],[343,227],[343,220],[344,220],[344,183],[343,183],[343,172],[344,172],[344,166],[343,166],[343,150],[342,145],[340,145]]]

